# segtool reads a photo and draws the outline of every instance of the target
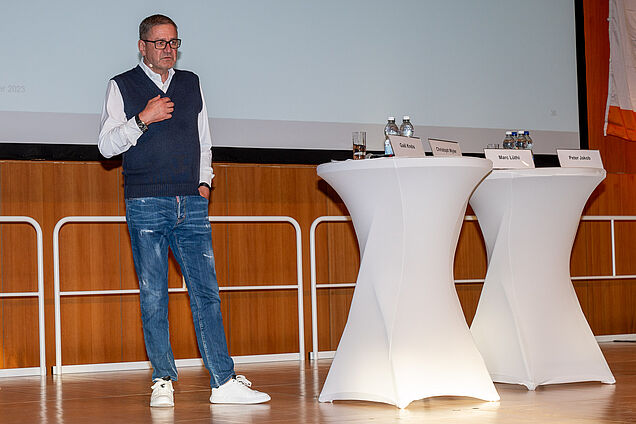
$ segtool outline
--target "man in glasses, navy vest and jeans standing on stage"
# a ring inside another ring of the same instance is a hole
[[[99,133],[105,157],[123,153],[126,221],[139,279],[150,406],[174,406],[177,380],[168,332],[168,248],[188,286],[212,403],[261,403],[266,393],[235,376],[214,269],[208,200],[212,152],[208,115],[192,72],[175,70],[177,25],[153,15],[139,25],[142,60],[109,81]]]

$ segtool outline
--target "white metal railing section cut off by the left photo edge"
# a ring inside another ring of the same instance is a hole
[[[40,337],[40,366],[27,368],[0,369],[0,377],[15,377],[20,375],[46,375],[46,333],[44,328],[44,247],[42,243],[42,227],[28,216],[1,216],[0,222],[26,223],[35,229],[37,246],[38,291],[0,293],[0,298],[37,297],[38,298],[38,334]]]

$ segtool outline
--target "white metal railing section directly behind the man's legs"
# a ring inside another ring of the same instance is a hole
[[[296,232],[296,278],[297,284],[287,285],[259,285],[259,286],[225,286],[219,287],[220,291],[244,291],[244,290],[289,290],[298,292],[298,359],[305,360],[305,337],[303,321],[303,271],[302,271],[302,236],[300,225],[289,216],[210,216],[210,222],[287,222],[294,227]],[[55,298],[55,374],[62,374],[62,296],[91,296],[110,294],[138,294],[139,289],[128,290],[95,290],[95,291],[61,291],[60,290],[60,252],[59,233],[63,225],[72,222],[126,222],[125,216],[68,216],[60,219],[53,230],[53,280]],[[184,292],[185,287],[170,288],[169,292]],[[287,355],[287,354],[283,354]],[[270,358],[272,355],[265,355]],[[288,355],[287,355],[288,356]],[[184,360],[182,360],[184,361]],[[112,368],[112,366],[111,366]],[[126,367],[124,367],[126,368]]]

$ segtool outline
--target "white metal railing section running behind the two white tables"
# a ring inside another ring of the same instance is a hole
[[[320,216],[312,222],[309,230],[309,267],[310,267],[310,294],[311,294],[311,334],[312,334],[312,359],[319,359],[318,351],[318,302],[317,289],[355,287],[356,283],[317,284],[316,283],[316,227],[322,222],[346,222],[351,221],[350,216]],[[466,215],[464,221],[477,221],[475,215]],[[636,221],[636,216],[611,216],[589,215],[581,217],[581,221],[609,221],[611,223],[612,237],[612,275],[594,275],[571,277],[572,280],[611,280],[633,279],[636,275],[616,275],[616,243],[614,237],[615,221]],[[483,283],[483,278],[455,280],[455,283]],[[329,356],[329,355],[327,355]]]

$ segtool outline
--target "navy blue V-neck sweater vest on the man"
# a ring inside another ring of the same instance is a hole
[[[123,154],[124,197],[186,196],[199,194],[200,142],[198,115],[203,107],[199,78],[177,71],[164,93],[135,67],[113,78],[131,119],[157,95],[174,102],[172,118],[148,125],[137,145]]]

